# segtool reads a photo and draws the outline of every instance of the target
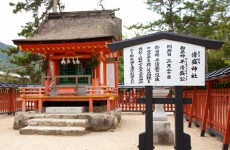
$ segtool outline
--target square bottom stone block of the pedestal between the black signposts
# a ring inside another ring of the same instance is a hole
[[[171,133],[153,133],[153,144],[174,145],[174,134]]]

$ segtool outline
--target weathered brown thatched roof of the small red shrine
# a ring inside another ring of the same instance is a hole
[[[19,44],[105,37],[119,40],[121,28],[121,19],[115,17],[114,10],[50,13],[34,37],[13,41]]]

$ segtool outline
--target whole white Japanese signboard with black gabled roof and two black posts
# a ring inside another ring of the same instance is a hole
[[[183,130],[183,86],[205,85],[205,48],[220,49],[224,42],[159,32],[108,47],[113,51],[124,48],[124,80],[126,86],[145,86],[146,130],[139,135],[139,150],[152,150],[152,103],[175,104],[175,149],[190,150],[191,139]],[[152,86],[175,86],[175,98],[152,98]]]

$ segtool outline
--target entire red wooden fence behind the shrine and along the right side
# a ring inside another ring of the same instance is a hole
[[[144,88],[119,88],[118,106],[122,111],[145,112],[144,104],[136,104],[137,97],[144,97]],[[172,93],[168,95],[171,97]],[[184,97],[192,98],[192,104],[184,105],[184,115],[189,120],[188,126],[194,123],[201,127],[201,136],[205,131],[223,138],[223,144],[230,141],[230,82],[207,82],[205,87],[188,87],[184,89]],[[0,114],[21,111],[22,104],[16,101],[18,88],[0,88]],[[174,111],[174,105],[165,104],[165,111]],[[27,102],[26,110],[34,110],[34,103]],[[155,105],[153,105],[155,110]]]

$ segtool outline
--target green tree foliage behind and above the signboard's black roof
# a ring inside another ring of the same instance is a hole
[[[224,41],[220,52],[208,50],[209,71],[230,65],[229,0],[147,0],[146,4],[160,19],[128,29],[171,31]]]

